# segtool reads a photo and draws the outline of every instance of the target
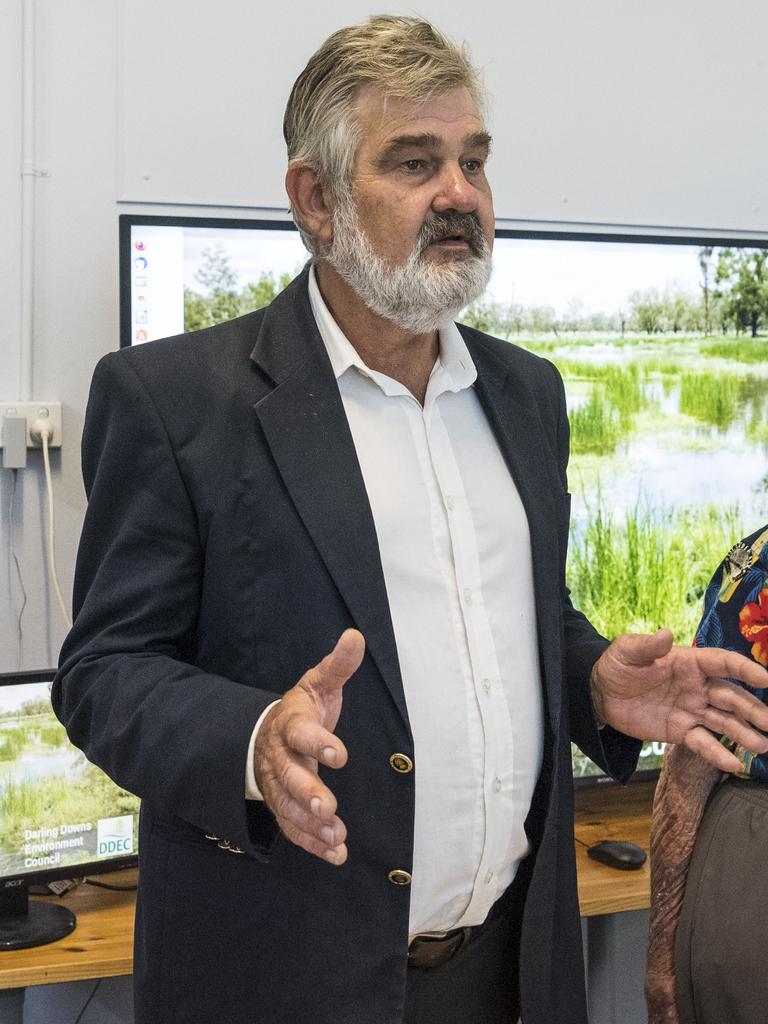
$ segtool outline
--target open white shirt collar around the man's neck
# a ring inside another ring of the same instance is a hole
[[[372,370],[362,361],[357,350],[333,318],[331,310],[326,305],[317,286],[314,264],[309,268],[309,303],[337,380],[354,367],[358,373],[375,381],[386,394],[401,393],[404,390],[401,385],[398,385],[397,389],[393,389],[391,387],[392,378]],[[477,379],[477,370],[464,338],[462,338],[456,324],[451,321],[439,329],[439,352],[432,370],[430,384],[436,383],[438,376],[442,378],[441,390],[444,391],[462,391],[464,388],[471,387]]]

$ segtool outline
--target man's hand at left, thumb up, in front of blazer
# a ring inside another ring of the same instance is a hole
[[[342,687],[365,651],[362,634],[345,630],[331,653],[267,713],[254,745],[256,784],[281,831],[331,864],[347,859],[347,830],[336,815],[336,798],[317,775],[317,763],[346,764],[346,748],[333,730]]]

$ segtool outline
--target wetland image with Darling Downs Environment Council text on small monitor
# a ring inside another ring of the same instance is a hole
[[[135,854],[138,803],[70,743],[48,683],[0,686],[0,876]]]

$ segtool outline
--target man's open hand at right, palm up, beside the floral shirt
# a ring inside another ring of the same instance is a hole
[[[713,732],[754,754],[768,751],[768,707],[727,678],[768,685],[749,657],[719,647],[676,647],[669,630],[617,637],[592,670],[595,709],[604,722],[638,739],[684,743],[721,771],[738,759]],[[710,731],[711,730],[711,731]]]

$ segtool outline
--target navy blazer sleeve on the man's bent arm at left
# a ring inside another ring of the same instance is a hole
[[[125,352],[96,368],[82,454],[88,508],[56,715],[89,760],[156,813],[258,855],[274,829],[245,799],[246,756],[280,694],[191,664],[204,555],[196,510]]]

